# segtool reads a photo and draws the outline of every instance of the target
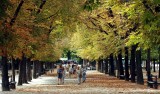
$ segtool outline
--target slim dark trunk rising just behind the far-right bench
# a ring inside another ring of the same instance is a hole
[[[150,69],[150,49],[147,50],[147,80],[148,81],[151,81],[152,78],[151,78],[151,69]]]

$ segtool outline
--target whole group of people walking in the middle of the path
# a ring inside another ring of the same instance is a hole
[[[72,75],[77,77],[77,83],[81,84],[86,80],[86,68],[78,65],[70,65],[62,66],[58,65],[57,67],[57,76],[58,76],[58,85],[64,84],[64,79],[66,77],[66,73],[68,72],[68,77],[71,78]]]

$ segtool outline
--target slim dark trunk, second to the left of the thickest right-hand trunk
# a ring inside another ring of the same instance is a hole
[[[125,47],[125,80],[129,81],[129,70],[128,70],[128,47]]]

